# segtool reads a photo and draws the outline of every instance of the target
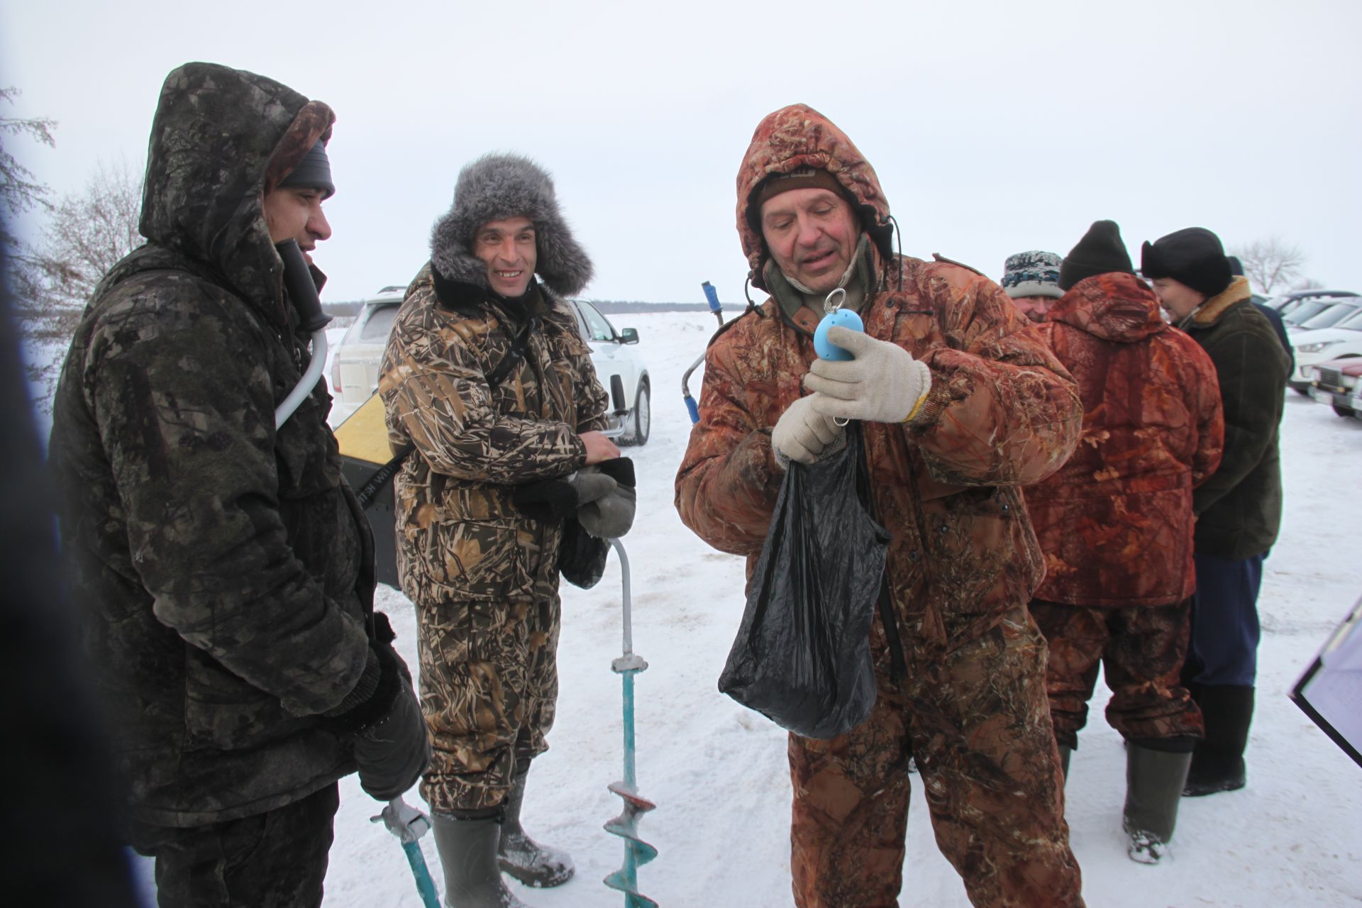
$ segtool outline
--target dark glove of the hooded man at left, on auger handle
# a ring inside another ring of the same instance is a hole
[[[360,682],[323,716],[332,730],[351,736],[360,787],[377,800],[391,800],[425,772],[430,739],[411,690],[411,672],[392,648],[387,617],[375,614],[375,625],[377,638],[369,641]]]

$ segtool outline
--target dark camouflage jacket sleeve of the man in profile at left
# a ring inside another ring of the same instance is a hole
[[[241,306],[188,280],[169,306],[131,299],[86,354],[84,396],[157,619],[312,715],[355,686],[368,636],[289,545],[267,365],[286,354]]]

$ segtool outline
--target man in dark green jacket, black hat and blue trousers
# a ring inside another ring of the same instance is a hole
[[[1220,467],[1193,494],[1196,598],[1184,672],[1205,723],[1184,794],[1208,795],[1245,784],[1258,587],[1282,520],[1278,426],[1290,362],[1209,230],[1145,242],[1140,270],[1177,327],[1211,355],[1224,407]]]

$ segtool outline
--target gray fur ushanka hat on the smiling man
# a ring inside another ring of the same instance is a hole
[[[535,233],[535,274],[558,295],[573,297],[591,280],[591,259],[558,211],[553,178],[515,154],[485,154],[459,172],[454,207],[430,231],[430,263],[448,280],[488,287],[488,265],[473,255],[473,237],[489,221],[528,218]]]

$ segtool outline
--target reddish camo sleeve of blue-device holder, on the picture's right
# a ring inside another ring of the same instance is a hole
[[[998,285],[928,264],[947,344],[922,355],[932,391],[908,432],[933,476],[957,485],[1032,485],[1064,466],[1083,429],[1077,385]]]

